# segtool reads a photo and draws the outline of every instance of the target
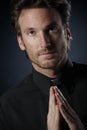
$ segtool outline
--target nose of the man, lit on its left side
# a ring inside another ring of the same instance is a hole
[[[41,42],[40,43],[41,48],[50,46],[51,45],[50,36],[46,32],[41,32],[40,33],[40,42]]]

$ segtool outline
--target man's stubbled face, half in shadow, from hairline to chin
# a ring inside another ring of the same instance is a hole
[[[26,50],[34,68],[50,69],[62,63],[69,46],[69,29],[56,10],[25,9],[18,22],[22,34],[18,36],[19,46]]]

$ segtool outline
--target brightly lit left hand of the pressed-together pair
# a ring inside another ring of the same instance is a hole
[[[48,130],[61,130],[60,128],[60,112],[55,96],[54,87],[50,88],[49,110],[47,116]]]

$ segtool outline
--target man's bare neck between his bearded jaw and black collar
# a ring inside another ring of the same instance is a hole
[[[56,67],[54,68],[50,68],[50,69],[44,69],[41,67],[36,67],[33,64],[33,67],[36,71],[38,71],[39,73],[46,75],[49,78],[56,78],[58,77],[60,71],[62,70],[63,66],[66,64],[68,57],[66,56],[60,64],[56,65]]]

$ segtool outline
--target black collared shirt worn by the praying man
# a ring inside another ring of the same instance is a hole
[[[86,126],[87,66],[67,62],[57,79],[50,79],[33,69],[32,74],[25,77],[17,87],[1,96],[0,130],[46,130],[52,80]],[[66,129],[64,121],[63,125]]]

